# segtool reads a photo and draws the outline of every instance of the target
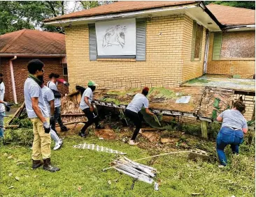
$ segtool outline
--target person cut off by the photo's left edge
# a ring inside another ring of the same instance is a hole
[[[4,93],[6,88],[3,84],[3,74],[0,73],[0,138],[3,138],[3,118],[6,116],[5,111],[10,111],[11,104],[8,102],[4,102]],[[5,107],[6,106],[6,109]]]

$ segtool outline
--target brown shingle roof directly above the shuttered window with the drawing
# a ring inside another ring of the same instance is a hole
[[[118,1],[88,10],[81,10],[76,13],[70,13],[59,17],[52,17],[45,19],[44,22],[55,21],[59,19],[70,19],[77,17],[91,17],[96,15],[106,15],[113,13],[125,13],[135,10],[146,10],[150,8],[162,8],[167,6],[185,5],[190,3],[197,3],[197,1]]]

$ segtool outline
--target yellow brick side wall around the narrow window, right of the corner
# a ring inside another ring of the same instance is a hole
[[[192,34],[193,19],[185,15],[183,20],[183,69],[182,83],[190,79],[201,77],[204,73],[204,52],[206,45],[206,29],[203,30],[201,40],[201,59],[199,61],[191,61],[192,54]]]

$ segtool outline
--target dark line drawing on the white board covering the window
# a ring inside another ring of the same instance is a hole
[[[103,38],[102,47],[111,47],[113,45],[125,47],[125,30],[126,26],[120,26],[120,24],[108,28]]]

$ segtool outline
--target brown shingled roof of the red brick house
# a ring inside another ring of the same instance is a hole
[[[22,29],[0,36],[0,54],[66,54],[61,33]]]

